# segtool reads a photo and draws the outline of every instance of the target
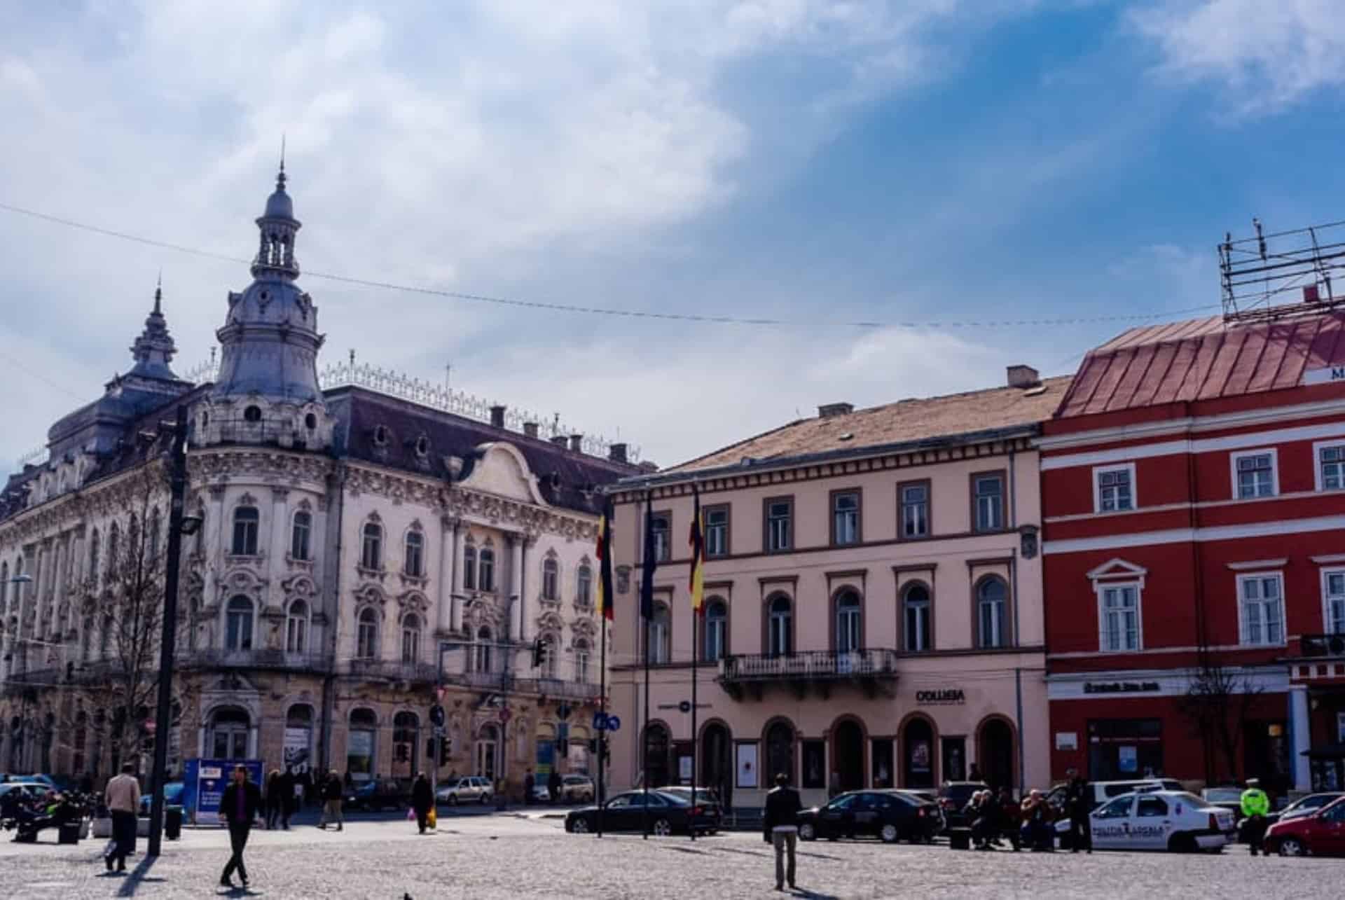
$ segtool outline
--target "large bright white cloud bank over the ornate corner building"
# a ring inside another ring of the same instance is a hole
[[[955,43],[933,31],[982,27],[1032,5],[196,0],[132,12],[93,4],[59,20],[9,16],[0,199],[247,256],[284,133],[309,270],[640,307],[659,300],[603,296],[603,273],[580,288],[551,272],[592,257],[638,283],[623,266],[693,246],[683,229],[740,196],[783,143],[804,157],[853,104],[931,78],[929,47]],[[781,105],[761,113],[752,66],[779,58],[796,65],[771,70],[763,89]],[[685,256],[694,266],[694,249]],[[225,292],[247,280],[242,265],[3,213],[0,264],[9,280],[0,342],[46,379],[7,371],[23,385],[7,394],[23,400],[7,404],[0,468],[75,405],[47,382],[93,400],[128,367],[157,269],[179,371],[206,357]],[[777,424],[796,405],[882,402],[986,374],[971,344],[946,347],[968,362],[954,377],[908,363],[942,346],[909,335],[845,339],[829,348],[841,362],[827,367],[796,363],[815,357],[803,339],[713,330],[698,332],[705,350],[671,351],[647,369],[633,348],[664,335],[644,326],[582,331],[576,319],[538,317],[547,313],[304,284],[330,336],[324,362],[347,347],[393,367],[475,359],[482,393],[560,409],[590,428],[621,422],[623,435],[663,459]],[[629,402],[590,406],[600,394],[586,366],[609,352]],[[695,413],[697,426],[678,425],[678,412]]]

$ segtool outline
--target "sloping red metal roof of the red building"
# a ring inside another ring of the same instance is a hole
[[[1342,312],[1131,328],[1084,358],[1056,418],[1297,387],[1305,370],[1342,362]]]

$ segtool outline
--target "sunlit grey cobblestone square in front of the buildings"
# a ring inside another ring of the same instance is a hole
[[[681,838],[569,835],[533,815],[447,818],[417,835],[408,822],[363,822],[342,833],[254,831],[249,892],[217,887],[227,834],[190,830],[153,865],[104,873],[102,841],[78,846],[0,843],[0,897],[771,897],[771,849],[755,834]],[[140,843],[144,850],[144,842]],[[1329,897],[1345,860],[1163,853],[955,853],[946,846],[818,842],[799,848],[806,897]]]

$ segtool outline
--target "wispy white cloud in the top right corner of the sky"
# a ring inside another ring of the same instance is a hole
[[[1244,113],[1266,113],[1345,82],[1338,0],[1162,0],[1131,22],[1162,52],[1161,71],[1212,79]]]

